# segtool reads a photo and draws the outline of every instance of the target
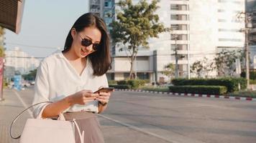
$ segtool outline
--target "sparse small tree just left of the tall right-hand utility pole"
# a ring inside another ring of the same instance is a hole
[[[223,49],[221,52],[216,54],[215,64],[216,69],[218,69],[219,75],[222,76],[233,76],[236,70],[236,59],[242,61],[242,51],[241,50],[227,50]]]

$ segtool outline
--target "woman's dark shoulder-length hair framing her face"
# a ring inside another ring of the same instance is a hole
[[[106,31],[106,24],[103,19],[91,13],[83,14],[80,16],[71,29],[75,28],[77,32],[83,31],[86,27],[95,26],[99,31],[101,31],[101,41],[100,48],[97,51],[88,55],[93,66],[93,75],[101,76],[106,73],[108,69],[111,68],[111,58],[109,53],[109,34]],[[71,29],[65,39],[65,46],[63,53],[70,50],[73,42],[73,37],[71,36]]]

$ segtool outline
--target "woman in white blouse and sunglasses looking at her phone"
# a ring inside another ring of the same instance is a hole
[[[103,112],[110,93],[93,94],[108,87],[106,71],[111,59],[109,36],[104,21],[91,13],[79,17],[65,40],[64,50],[45,58],[35,81],[36,118],[54,118],[64,113],[66,120],[76,119],[84,131],[84,142],[104,142],[94,113]],[[76,142],[80,142],[77,131]]]

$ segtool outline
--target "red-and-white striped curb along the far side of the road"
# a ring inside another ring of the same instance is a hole
[[[123,91],[123,92],[147,92],[147,93],[153,93],[153,94],[178,95],[183,97],[209,97],[209,98],[256,101],[256,98],[252,98],[252,97],[229,97],[229,96],[215,95],[215,94],[184,94],[184,93],[174,93],[174,92],[155,92],[155,91],[148,91],[148,90],[142,90],[142,89],[115,89],[115,90]]]

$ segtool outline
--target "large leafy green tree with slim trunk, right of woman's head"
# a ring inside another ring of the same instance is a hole
[[[120,51],[129,51],[129,59],[131,68],[129,78],[134,75],[134,59],[137,56],[139,46],[149,48],[147,39],[150,37],[158,37],[157,34],[169,31],[163,24],[158,23],[159,17],[154,12],[159,8],[157,2],[152,0],[151,4],[147,4],[146,0],[140,1],[138,4],[132,4],[132,0],[121,0],[116,3],[122,11],[119,11],[116,18],[117,21],[111,23],[111,38],[114,43],[122,43],[124,46]]]

